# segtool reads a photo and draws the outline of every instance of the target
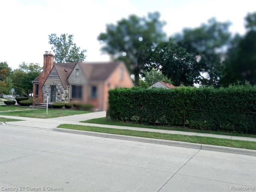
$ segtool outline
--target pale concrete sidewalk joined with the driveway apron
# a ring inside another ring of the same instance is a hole
[[[16,121],[16,122],[5,122],[5,124],[7,124],[7,125],[14,125],[14,126],[54,129],[54,128],[57,128],[58,125],[60,125],[60,124],[75,124],[75,125],[85,125],[85,126],[104,127],[104,128],[127,129],[127,130],[136,130],[136,131],[159,132],[159,133],[167,133],[167,134],[181,134],[181,135],[190,135],[190,136],[203,136],[203,137],[224,138],[224,139],[230,139],[230,140],[244,140],[244,141],[256,142],[256,138],[251,138],[251,137],[227,136],[227,135],[206,134],[206,133],[197,133],[197,132],[159,130],[159,129],[150,129],[150,128],[103,125],[103,124],[92,124],[92,123],[81,123],[80,122],[80,121],[94,119],[94,118],[102,118],[105,116],[106,116],[106,112],[94,112],[94,113],[64,116],[64,117],[57,117],[57,118],[49,118],[49,119],[0,115],[0,117],[24,120],[24,121]]]

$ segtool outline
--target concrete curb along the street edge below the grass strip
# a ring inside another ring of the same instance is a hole
[[[249,150],[249,149],[214,146],[214,145],[197,144],[197,143],[187,143],[187,142],[180,142],[180,141],[161,140],[161,139],[152,139],[152,138],[143,138],[143,137],[134,137],[134,136],[126,136],[126,135],[115,135],[115,134],[98,133],[98,132],[90,132],[90,131],[71,130],[71,129],[65,129],[65,128],[54,128],[53,130],[58,131],[58,132],[82,134],[82,135],[89,135],[89,136],[102,137],[102,138],[129,140],[129,141],[136,141],[136,142],[144,142],[144,143],[152,143],[152,144],[169,145],[169,146],[176,146],[176,147],[185,147],[185,148],[192,148],[192,149],[256,156],[256,150]]]

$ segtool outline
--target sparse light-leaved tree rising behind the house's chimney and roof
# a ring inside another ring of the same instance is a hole
[[[80,47],[76,47],[73,43],[73,35],[61,34],[58,37],[55,33],[49,35],[49,44],[53,45],[54,62],[69,63],[78,62],[85,59],[86,50],[80,51]]]

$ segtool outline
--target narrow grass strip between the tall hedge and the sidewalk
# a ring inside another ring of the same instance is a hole
[[[196,132],[196,133],[207,133],[207,134],[217,134],[217,135],[228,135],[228,136],[240,136],[240,137],[253,137],[256,138],[256,135],[253,134],[242,134],[242,133],[231,133],[231,132],[219,132],[219,131],[211,131],[211,130],[200,130],[200,129],[190,129],[183,127],[166,127],[166,126],[151,126],[151,125],[142,125],[142,124],[134,124],[134,123],[126,123],[121,121],[112,121],[106,120],[106,118],[96,118],[90,119],[86,121],[80,121],[82,123],[95,123],[95,124],[104,124],[104,125],[117,125],[117,126],[128,126],[128,127],[140,127],[140,128],[150,128],[150,129],[162,129],[162,130],[173,130],[173,131],[184,131],[184,132]]]

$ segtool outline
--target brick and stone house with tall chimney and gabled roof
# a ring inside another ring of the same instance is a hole
[[[43,70],[33,80],[33,104],[48,102],[93,104],[107,110],[110,89],[133,86],[123,62],[54,63],[54,55],[44,54]]]

